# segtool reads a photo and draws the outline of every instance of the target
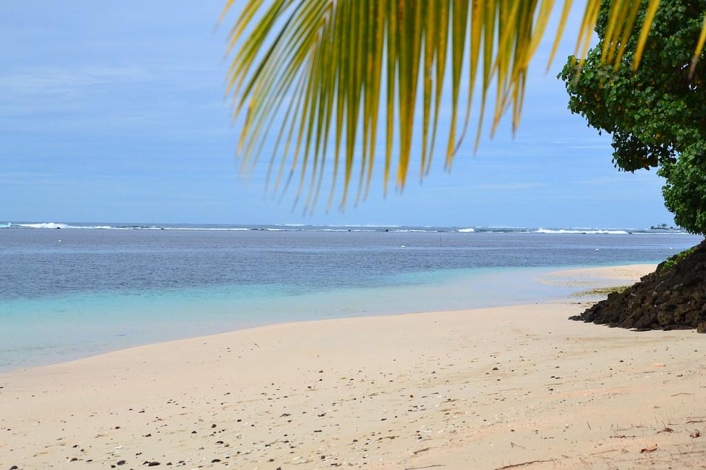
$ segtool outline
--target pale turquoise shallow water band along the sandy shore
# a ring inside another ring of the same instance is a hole
[[[405,274],[383,287],[299,292],[248,285],[82,292],[0,303],[0,369],[268,323],[542,302],[575,289],[540,283],[556,268]]]

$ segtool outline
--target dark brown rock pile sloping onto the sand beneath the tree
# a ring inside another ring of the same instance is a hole
[[[706,240],[569,318],[637,330],[696,328],[706,333]]]

